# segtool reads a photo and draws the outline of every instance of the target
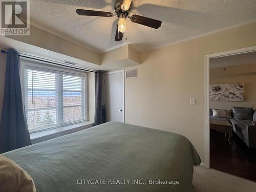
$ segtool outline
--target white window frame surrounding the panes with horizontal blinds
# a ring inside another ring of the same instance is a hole
[[[73,76],[78,76],[78,77],[84,78],[84,87],[82,88],[82,89],[84,89],[84,91],[83,90],[81,91],[81,98],[82,98],[81,108],[82,108],[82,117],[84,118],[84,120],[79,121],[79,122],[65,123],[62,125],[57,124],[56,126],[53,126],[53,127],[48,127],[48,128],[36,130],[36,131],[29,131],[29,133],[41,132],[41,131],[45,131],[45,130],[51,130],[51,129],[56,129],[59,127],[65,127],[65,126],[75,125],[75,124],[78,124],[78,126],[79,126],[80,123],[88,121],[88,112],[89,112],[88,98],[89,97],[88,97],[88,73],[87,72],[82,72],[81,70],[78,70],[78,69],[77,70],[70,69],[65,66],[63,66],[63,67],[54,66],[54,65],[49,64],[44,61],[33,61],[31,59],[20,58],[20,81],[22,83],[22,92],[23,92],[25,110],[27,109],[27,106],[28,106],[27,95],[25,94],[25,91],[27,89],[27,86],[25,84],[27,82],[25,79],[25,69],[38,70],[38,71],[51,72],[51,73],[61,73],[62,75],[73,75]],[[56,78],[58,78],[58,75],[56,76]],[[62,78],[62,80],[63,80],[63,78]],[[56,82],[57,81],[58,81],[58,79],[56,79]],[[57,88],[57,86],[59,86],[59,83],[56,83],[56,99],[58,99],[57,92],[60,92],[60,90],[59,90],[59,88]],[[62,93],[63,93],[63,90],[62,90]],[[56,110],[57,110],[57,105],[56,105]],[[57,113],[57,111],[56,111],[56,113]],[[27,118],[27,115],[28,115],[28,111],[26,110],[26,118]],[[56,120],[59,121],[59,117],[57,117]]]

